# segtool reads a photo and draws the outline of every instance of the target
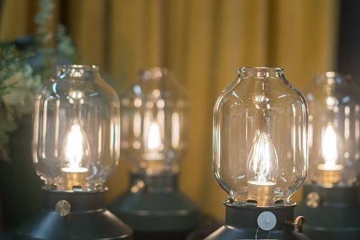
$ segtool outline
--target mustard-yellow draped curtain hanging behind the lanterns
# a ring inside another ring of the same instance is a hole
[[[118,92],[141,67],[166,66],[190,95],[190,150],[180,189],[223,220],[226,193],[212,174],[212,114],[219,92],[241,66],[285,68],[300,90],[313,73],[335,70],[338,0],[55,1],[86,64],[111,73]],[[36,1],[3,0],[0,40],[33,33]],[[60,7],[61,6],[61,7]],[[128,185],[120,164],[108,201]],[[301,200],[299,193],[295,200]]]

